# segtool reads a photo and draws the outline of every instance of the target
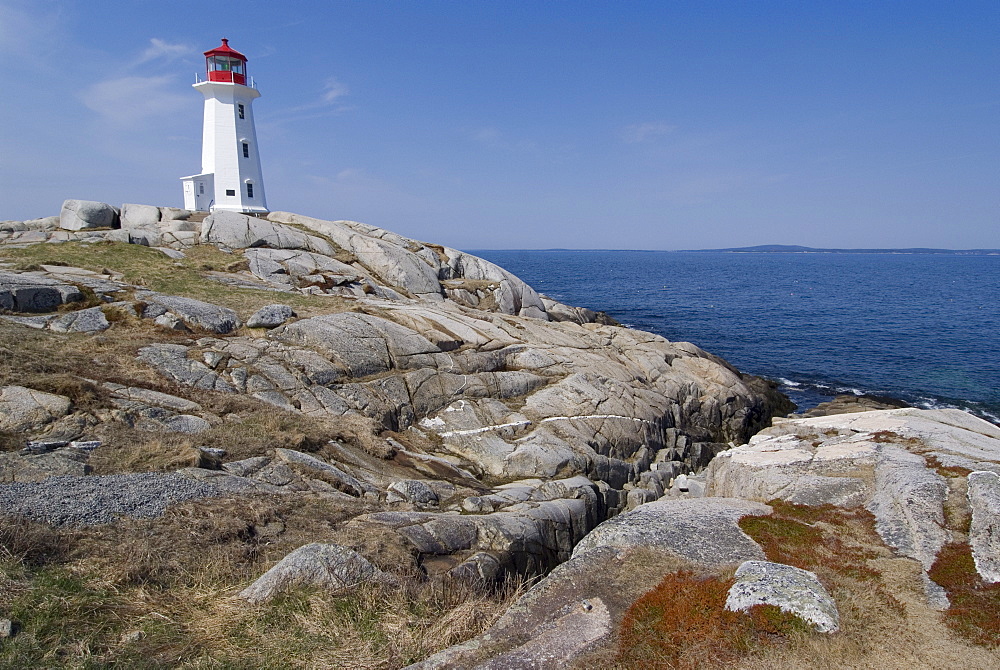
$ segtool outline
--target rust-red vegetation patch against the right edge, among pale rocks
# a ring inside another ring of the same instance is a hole
[[[928,574],[951,600],[945,612],[948,626],[975,644],[1000,646],[1000,584],[983,582],[969,545],[945,545]]]

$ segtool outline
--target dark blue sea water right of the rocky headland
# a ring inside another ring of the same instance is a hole
[[[474,251],[562,302],[781,382],[1000,422],[1000,256]]]

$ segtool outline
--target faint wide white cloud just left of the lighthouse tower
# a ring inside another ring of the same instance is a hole
[[[115,124],[138,125],[190,107],[190,96],[174,90],[174,77],[121,77],[87,88],[83,104]]]

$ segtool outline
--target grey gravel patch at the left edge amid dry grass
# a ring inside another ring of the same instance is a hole
[[[92,526],[120,517],[152,519],[171,503],[226,491],[174,473],[58,476],[0,485],[0,511],[55,526]]]

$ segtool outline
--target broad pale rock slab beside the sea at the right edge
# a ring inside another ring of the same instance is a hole
[[[883,541],[927,570],[951,539],[949,489],[936,464],[997,468],[1000,428],[958,410],[913,408],[782,420],[719,454],[706,492],[863,505]]]

